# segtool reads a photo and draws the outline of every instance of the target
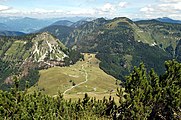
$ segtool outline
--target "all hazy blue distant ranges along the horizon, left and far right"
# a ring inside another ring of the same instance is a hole
[[[62,17],[62,18],[45,18],[37,19],[30,17],[0,17],[0,31],[18,31],[23,33],[32,33],[44,27],[52,25],[61,25],[77,28],[78,26],[95,20],[91,17]],[[106,19],[108,20],[108,19]],[[134,19],[133,21],[140,21],[142,19]],[[181,24],[180,20],[173,20],[168,17],[157,18],[160,22]]]

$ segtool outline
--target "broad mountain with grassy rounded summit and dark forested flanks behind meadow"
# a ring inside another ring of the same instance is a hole
[[[82,52],[97,53],[100,67],[122,80],[140,62],[144,62],[148,69],[155,68],[156,72],[162,73],[164,61],[173,56],[157,45],[157,41],[149,35],[152,34],[150,31],[143,30],[139,22],[125,17],[113,20],[101,18],[75,29],[66,44]]]

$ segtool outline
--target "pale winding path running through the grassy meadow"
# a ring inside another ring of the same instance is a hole
[[[84,64],[86,64],[86,63],[84,63]],[[83,81],[83,82],[81,82],[81,83],[79,83],[79,84],[76,84],[75,86],[72,86],[71,88],[65,90],[65,91],[63,92],[63,95],[65,95],[68,91],[72,90],[73,88],[75,88],[75,87],[77,87],[77,86],[80,86],[80,85],[88,82],[88,73],[87,73],[87,71],[86,71],[85,68],[84,68],[84,64],[82,64],[82,70],[83,70],[84,73],[85,73],[85,81]]]

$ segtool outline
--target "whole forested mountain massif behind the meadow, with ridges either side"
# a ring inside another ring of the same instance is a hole
[[[98,18],[77,28],[49,26],[42,31],[52,33],[66,46],[78,51],[97,53],[96,57],[101,60],[100,67],[124,80],[124,76],[140,62],[162,73],[164,61],[180,61],[180,28],[180,24],[157,20],[133,22],[120,17],[112,20]],[[59,32],[60,29],[62,32]],[[63,31],[67,34],[61,34]]]

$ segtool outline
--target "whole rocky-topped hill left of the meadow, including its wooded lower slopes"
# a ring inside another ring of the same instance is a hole
[[[74,53],[74,54],[73,54]],[[22,81],[35,84],[38,70],[53,66],[65,66],[75,63],[80,54],[66,48],[57,38],[44,32],[22,37],[0,38],[0,88],[7,89],[13,83],[13,75]]]

